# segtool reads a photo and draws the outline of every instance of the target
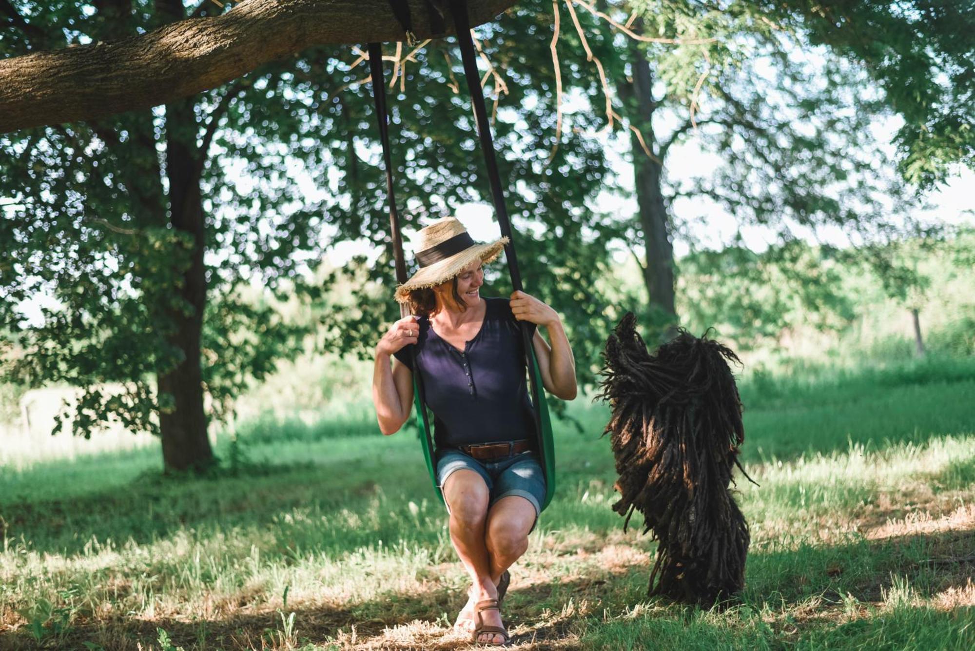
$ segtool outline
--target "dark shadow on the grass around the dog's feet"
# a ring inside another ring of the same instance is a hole
[[[513,619],[531,627],[519,640],[538,648],[836,648],[838,626],[851,639],[876,641],[870,648],[969,648],[962,640],[975,621],[971,596],[953,603],[951,595],[971,590],[973,549],[975,530],[961,529],[757,551],[738,606],[723,612],[648,600],[649,567],[631,565],[515,590]],[[916,597],[942,602],[932,608]],[[920,646],[911,644],[916,635]]]

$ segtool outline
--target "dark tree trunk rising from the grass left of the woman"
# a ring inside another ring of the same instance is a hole
[[[182,16],[181,0],[157,0],[161,18]],[[159,427],[163,440],[163,464],[167,471],[200,471],[214,463],[214,452],[207,438],[207,415],[203,406],[203,370],[200,340],[203,314],[207,305],[207,277],[204,265],[206,226],[200,194],[201,157],[206,152],[196,146],[197,124],[194,98],[166,105],[166,176],[170,181],[170,223],[187,233],[193,249],[190,265],[178,287],[180,298],[191,311],[176,307],[167,314],[175,328],[169,343],[182,352],[176,368],[158,379]],[[167,401],[164,394],[172,397]]]

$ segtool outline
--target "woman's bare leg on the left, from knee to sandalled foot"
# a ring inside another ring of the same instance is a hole
[[[471,598],[475,602],[497,598],[485,544],[487,503],[490,499],[487,483],[472,470],[455,471],[444,482],[444,499],[450,507],[450,542],[473,584]],[[496,610],[484,611],[483,617],[488,626],[503,626],[501,615]],[[501,643],[504,640],[500,635],[487,633],[478,641]]]

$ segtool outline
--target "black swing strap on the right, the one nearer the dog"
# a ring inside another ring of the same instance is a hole
[[[481,137],[481,151],[485,157],[487,179],[490,182],[494,212],[497,214],[497,221],[501,227],[501,235],[508,238],[508,244],[504,247],[504,255],[508,262],[508,274],[511,276],[511,287],[516,291],[522,291],[522,275],[518,268],[518,257],[515,255],[515,238],[511,231],[511,220],[508,218],[508,209],[504,203],[501,175],[497,171],[497,160],[494,158],[494,142],[490,134],[490,125],[487,122],[485,97],[481,91],[481,75],[478,72],[477,53],[474,50],[474,41],[471,38],[470,19],[467,16],[467,3],[465,0],[450,0],[450,13],[453,14],[453,24],[457,32],[457,44],[460,46],[460,57],[464,62],[464,77],[467,79],[467,88],[470,92],[471,103],[474,106],[474,119],[477,123],[478,135]],[[531,370],[531,335],[528,331],[530,326],[526,322],[521,322],[521,325],[522,340],[525,344],[526,364],[528,365],[528,379],[531,383],[531,402],[535,405],[535,427],[538,436],[541,437],[541,397],[538,382],[535,380],[535,374]]]

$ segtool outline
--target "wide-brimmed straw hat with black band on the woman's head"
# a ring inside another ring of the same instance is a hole
[[[406,283],[396,287],[396,300],[401,303],[409,302],[411,290],[440,285],[477,259],[490,262],[508,244],[508,238],[489,244],[475,242],[456,217],[438,219],[421,228],[410,241],[420,268]]]

